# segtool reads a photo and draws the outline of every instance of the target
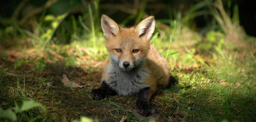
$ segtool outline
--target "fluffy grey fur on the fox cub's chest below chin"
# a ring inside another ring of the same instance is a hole
[[[149,71],[145,69],[137,68],[123,71],[119,67],[110,65],[105,70],[110,77],[106,83],[119,95],[132,96],[140,89],[149,87],[148,84],[143,83],[143,80],[149,76]]]

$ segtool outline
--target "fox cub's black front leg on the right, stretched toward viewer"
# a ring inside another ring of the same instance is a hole
[[[136,108],[139,111],[139,114],[144,115],[144,116],[148,116],[151,113],[151,108],[149,105],[149,100],[151,97],[151,88],[150,87],[146,87],[141,89],[138,93],[137,93],[137,102],[136,102]]]

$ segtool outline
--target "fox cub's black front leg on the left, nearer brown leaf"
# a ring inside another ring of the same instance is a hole
[[[92,97],[92,99],[96,99],[96,100],[101,100],[107,97],[108,95],[117,95],[117,93],[116,91],[111,89],[109,85],[105,83],[105,81],[102,82],[100,88],[93,89],[92,92],[90,93],[90,96]]]

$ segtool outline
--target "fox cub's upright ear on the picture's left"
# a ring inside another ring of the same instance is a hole
[[[117,23],[104,14],[101,16],[101,28],[105,38],[115,37],[120,32]]]

